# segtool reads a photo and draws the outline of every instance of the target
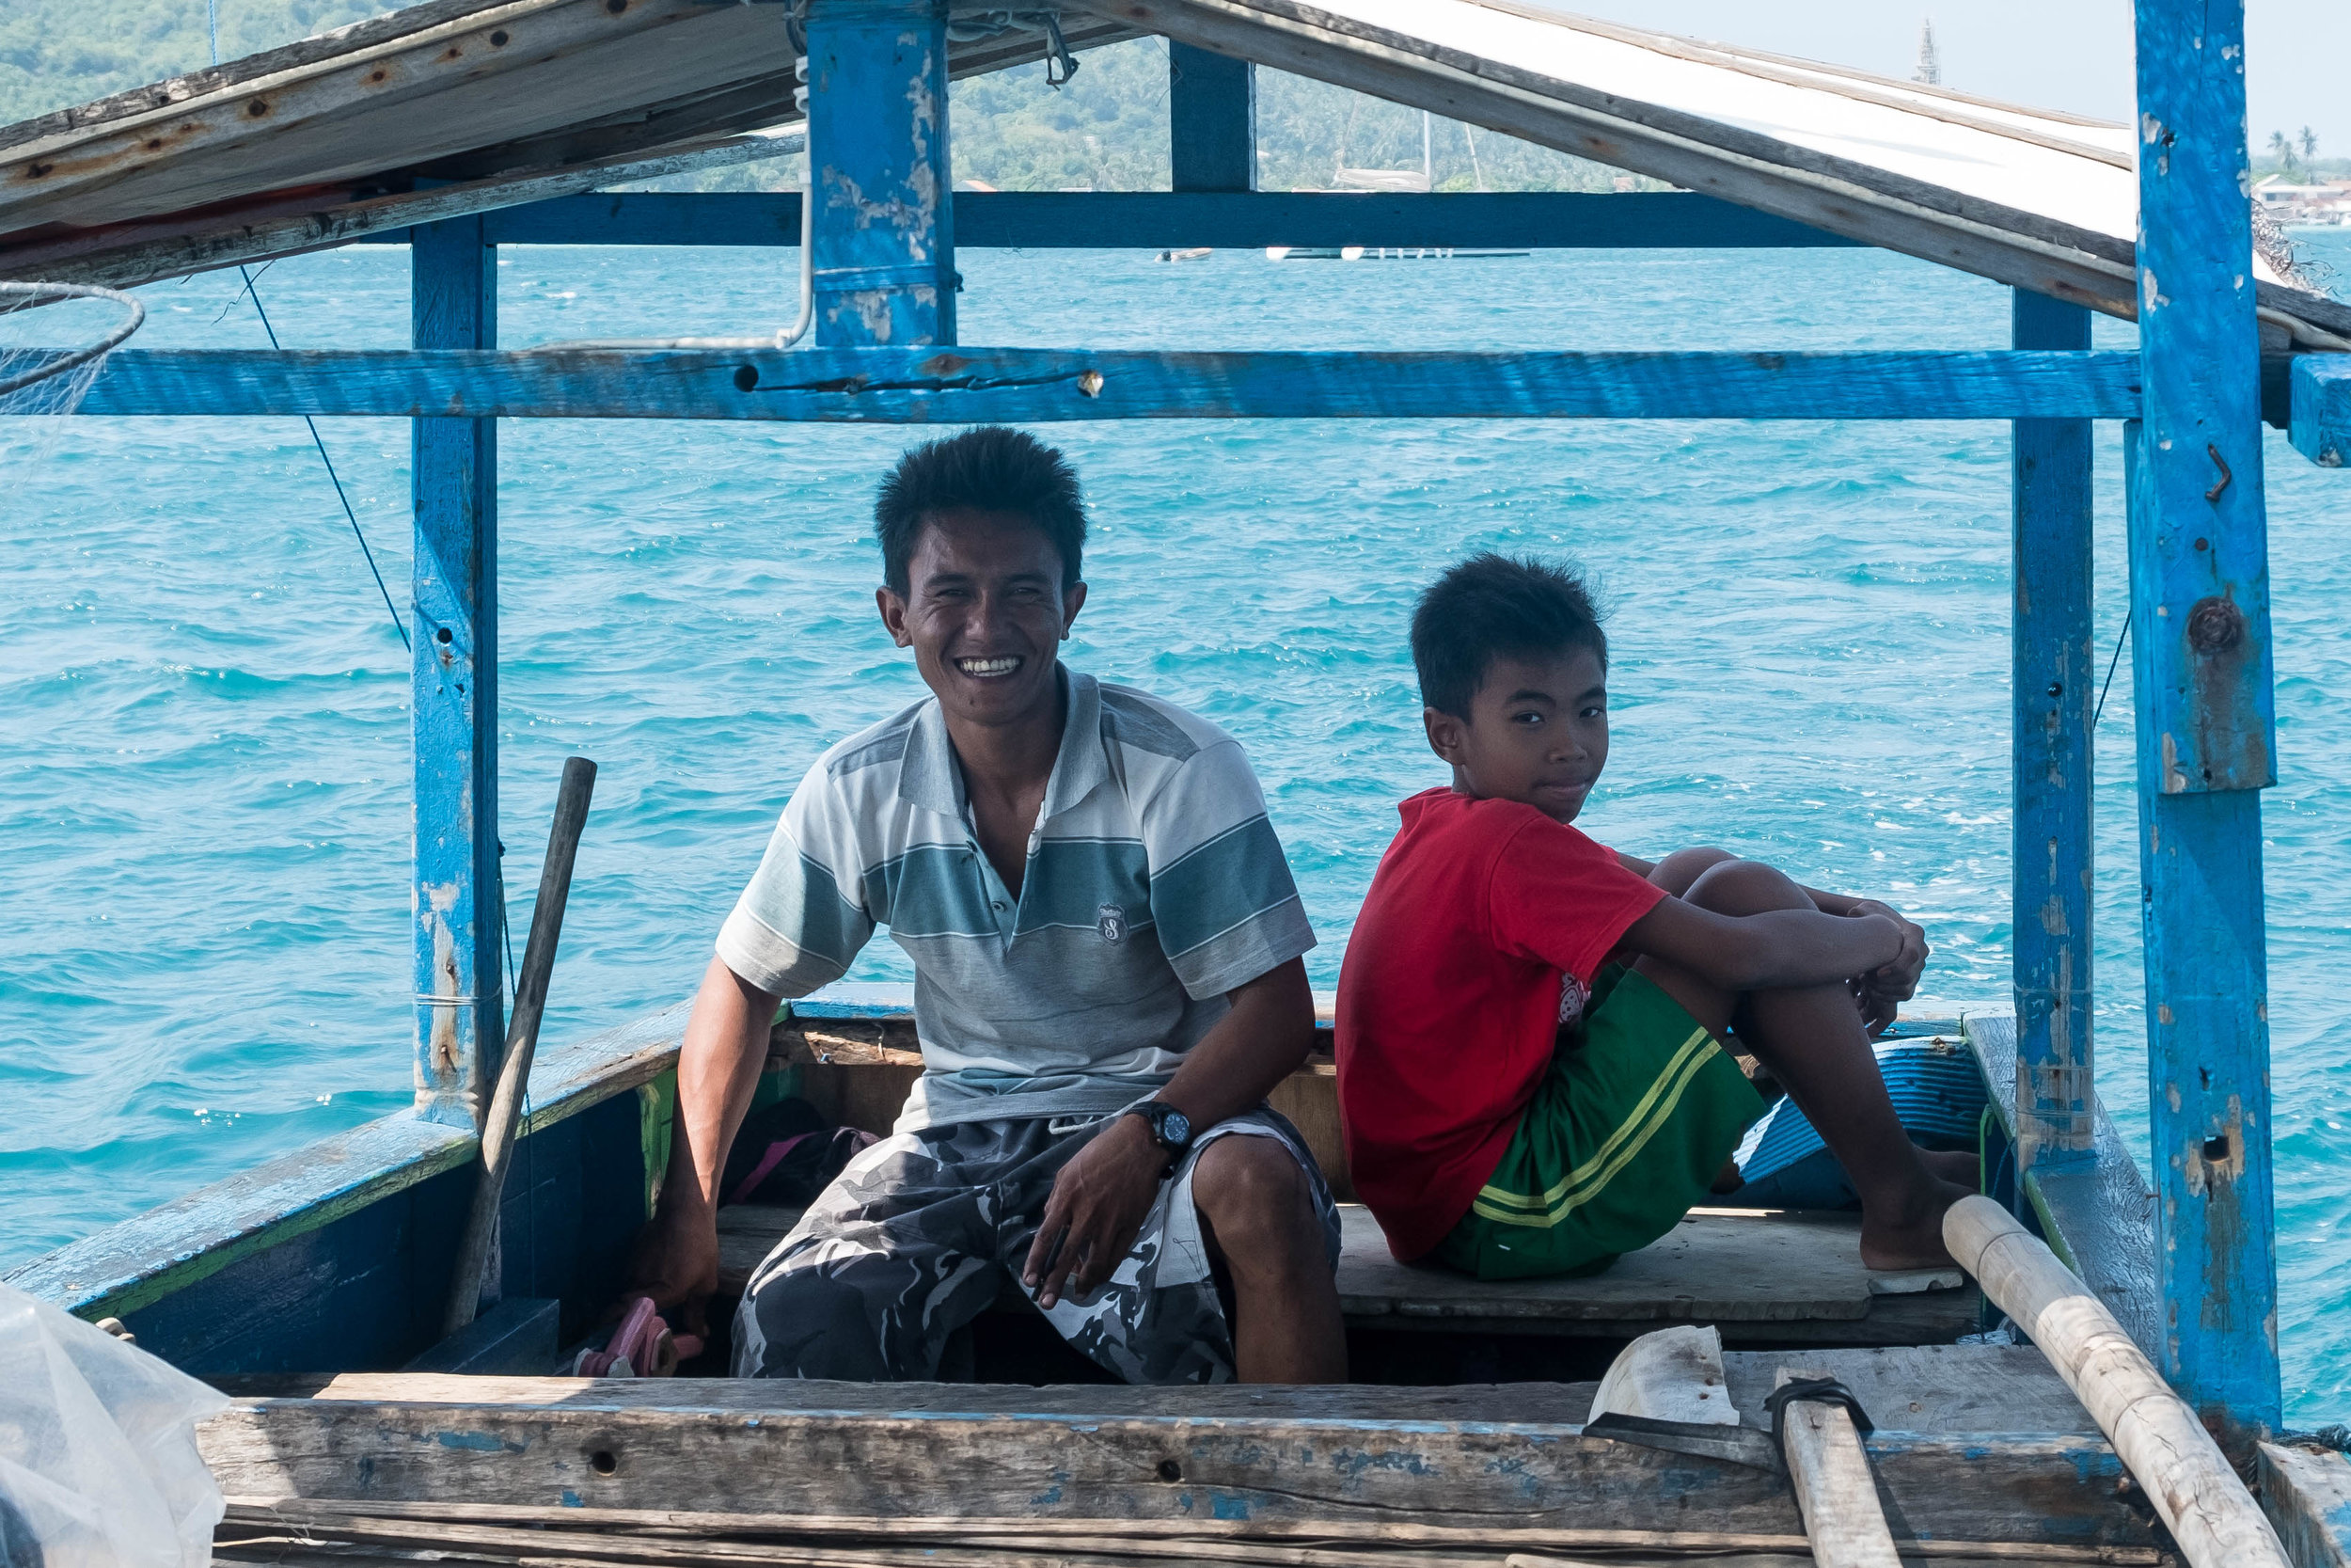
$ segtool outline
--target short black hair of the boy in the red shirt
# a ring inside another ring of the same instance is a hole
[[[1563,649],[1592,649],[1608,663],[1608,632],[1573,567],[1486,550],[1451,567],[1413,607],[1420,701],[1458,719],[1469,717],[1495,658]]]

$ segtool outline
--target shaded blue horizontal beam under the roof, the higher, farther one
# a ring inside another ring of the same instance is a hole
[[[630,190],[564,195],[484,214],[494,244],[799,244],[795,193]],[[407,244],[390,228],[357,244]],[[1502,193],[1211,193],[966,190],[957,247],[1258,249],[1265,244],[1451,244],[1462,249],[1759,249],[1853,247],[1693,190]]]

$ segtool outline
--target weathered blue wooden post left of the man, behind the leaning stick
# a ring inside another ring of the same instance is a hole
[[[482,219],[411,230],[416,348],[496,348]],[[480,1126],[505,1034],[498,978],[498,423],[414,421],[416,1112]]]

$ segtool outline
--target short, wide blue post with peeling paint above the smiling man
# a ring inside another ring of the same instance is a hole
[[[811,0],[816,343],[955,341],[945,0]]]

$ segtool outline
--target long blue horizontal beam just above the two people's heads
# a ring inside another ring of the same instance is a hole
[[[120,350],[82,414],[2132,418],[2130,353]]]

